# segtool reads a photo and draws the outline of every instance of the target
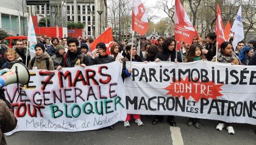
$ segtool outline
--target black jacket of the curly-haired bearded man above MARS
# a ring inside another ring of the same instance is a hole
[[[77,49],[76,52],[72,53],[68,50],[66,53],[66,56],[64,56],[64,59],[62,59],[62,65],[63,67],[74,67],[77,60],[80,59],[80,64],[85,64],[86,66],[91,66],[93,65],[93,61],[90,58],[90,56],[85,55],[82,53],[80,49]],[[64,66],[65,64],[65,66]]]

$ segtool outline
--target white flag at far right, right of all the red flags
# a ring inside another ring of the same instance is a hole
[[[236,19],[232,25],[231,31],[235,33],[232,46],[235,48],[238,44],[238,42],[242,41],[244,39],[244,27],[243,27],[243,21],[242,21],[242,7],[240,5],[238,13],[236,15]]]

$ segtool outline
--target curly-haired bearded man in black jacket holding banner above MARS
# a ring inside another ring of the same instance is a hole
[[[57,70],[62,67],[76,67],[76,66],[91,66],[93,62],[90,56],[85,55],[82,50],[78,49],[79,41],[76,38],[68,38],[68,52],[64,55],[62,65],[57,67]]]

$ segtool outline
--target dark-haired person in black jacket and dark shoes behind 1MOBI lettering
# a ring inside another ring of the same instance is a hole
[[[173,38],[166,38],[165,41],[163,41],[162,45],[162,52],[158,52],[155,56],[155,62],[160,61],[169,61],[169,62],[175,62],[176,59],[176,41]],[[182,62],[182,57],[180,52],[177,52],[177,62]],[[176,122],[174,121],[174,116],[169,115],[167,118],[169,124],[171,126],[176,126]],[[163,121],[163,116],[157,115],[155,120],[152,121],[153,125],[158,124],[159,121]]]

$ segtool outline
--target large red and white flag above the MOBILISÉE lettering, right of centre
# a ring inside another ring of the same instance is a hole
[[[176,41],[191,44],[196,33],[179,0],[175,1],[174,24]]]

